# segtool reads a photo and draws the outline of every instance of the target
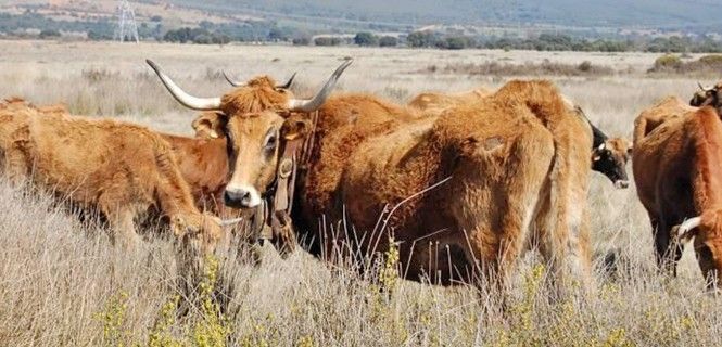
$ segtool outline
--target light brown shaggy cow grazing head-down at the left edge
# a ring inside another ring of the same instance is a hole
[[[11,104],[0,107],[0,151],[11,181],[98,208],[126,247],[138,239],[134,220],[151,208],[194,249],[211,252],[223,235],[221,221],[195,207],[168,143],[143,127]]]

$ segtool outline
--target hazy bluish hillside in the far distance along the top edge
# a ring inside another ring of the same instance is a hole
[[[552,24],[575,27],[713,29],[722,25],[719,0],[169,0],[210,11],[256,11],[401,25]]]

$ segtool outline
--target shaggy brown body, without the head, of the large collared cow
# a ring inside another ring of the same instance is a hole
[[[321,115],[338,117],[326,106]],[[315,138],[318,153],[299,195],[306,229],[319,230],[322,215],[335,226],[344,211],[353,226],[347,237],[315,234],[327,250],[335,240],[362,253],[382,252],[393,233],[407,278],[430,273],[449,283],[469,280],[474,260],[485,270],[509,271],[534,237],[555,271],[567,268],[586,281],[586,210],[578,202],[586,198],[591,162],[588,150],[575,149],[591,147],[591,130],[556,88],[514,82],[489,102],[449,108],[438,119],[408,118],[362,112],[332,131],[319,121],[327,136]],[[447,177],[398,206],[379,230],[384,206]]]

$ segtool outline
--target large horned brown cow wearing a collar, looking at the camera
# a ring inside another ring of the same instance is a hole
[[[311,137],[312,152],[301,154],[308,159],[296,181],[294,222],[314,233],[322,227],[317,217],[329,214],[355,227],[345,240],[315,233],[325,248],[335,240],[365,254],[383,250],[393,231],[407,278],[429,273],[449,283],[469,280],[465,269],[478,274],[477,261],[482,271],[508,271],[535,239],[560,278],[590,282],[586,207],[579,202],[586,200],[591,166],[588,150],[580,149],[591,147],[592,131],[548,82],[512,82],[492,102],[438,119],[369,95],[335,95],[314,125],[305,114],[263,111],[293,104],[266,77],[223,98],[198,99],[154,69],[181,103],[228,115],[229,204],[255,206],[274,181],[277,147]],[[384,206],[397,208],[377,229]],[[433,253],[435,244],[441,253]]]

